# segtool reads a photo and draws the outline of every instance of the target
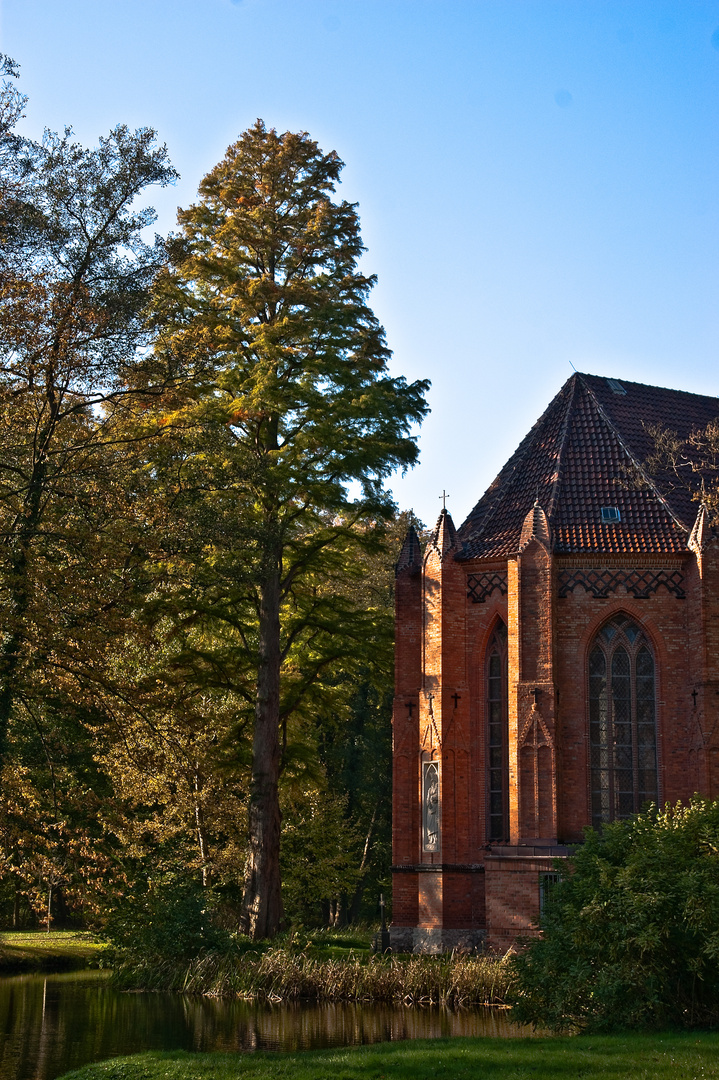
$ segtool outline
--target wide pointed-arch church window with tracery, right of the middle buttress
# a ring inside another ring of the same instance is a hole
[[[592,824],[656,802],[654,657],[627,616],[615,616],[589,652]]]

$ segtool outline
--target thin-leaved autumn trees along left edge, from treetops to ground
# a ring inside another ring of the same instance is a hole
[[[16,75],[6,58],[0,69]],[[140,444],[117,418],[164,260],[143,235],[154,212],[137,204],[176,175],[147,129],[119,125],[90,149],[69,130],[37,144],[13,132],[23,107],[3,83],[0,899],[16,926],[28,904],[72,922],[77,902],[107,885],[104,661],[134,623],[141,531],[124,483]]]

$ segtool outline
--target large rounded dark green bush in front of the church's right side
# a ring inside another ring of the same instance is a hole
[[[515,958],[514,1016],[553,1028],[719,1025],[719,802],[587,831]]]

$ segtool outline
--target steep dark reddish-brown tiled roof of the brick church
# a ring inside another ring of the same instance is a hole
[[[573,375],[460,528],[459,557],[518,551],[535,502],[555,552],[687,551],[702,475],[688,467],[681,478],[650,475],[651,429],[683,441],[717,417],[717,397]]]

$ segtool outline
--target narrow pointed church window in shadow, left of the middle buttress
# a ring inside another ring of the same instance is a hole
[[[510,835],[510,768],[507,759],[506,626],[494,627],[486,661],[488,839]]]

